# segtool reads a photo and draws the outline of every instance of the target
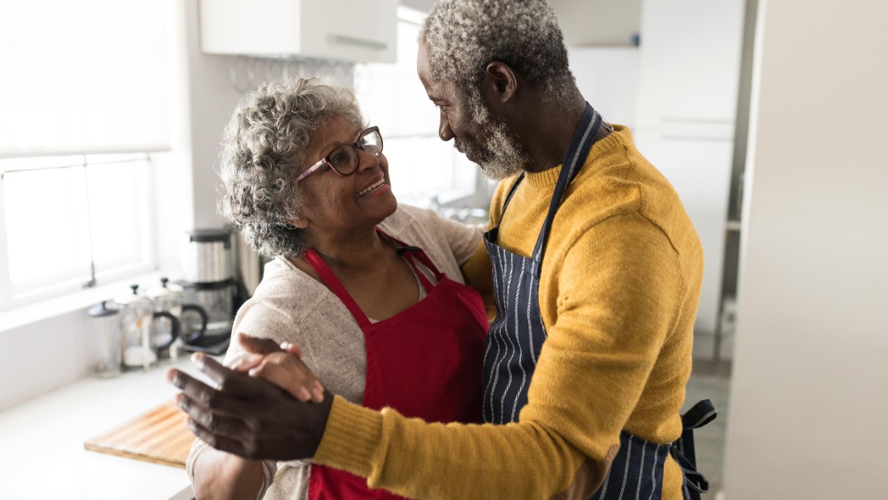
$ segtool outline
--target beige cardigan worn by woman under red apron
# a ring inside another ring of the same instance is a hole
[[[400,206],[379,225],[393,238],[423,248],[448,278],[464,283],[460,266],[480,244],[481,229],[441,218],[431,210]],[[268,262],[253,297],[234,319],[234,332],[287,341],[302,347],[303,361],[328,391],[360,404],[364,397],[367,359],[361,328],[337,296],[283,257]],[[232,343],[225,364],[244,352]],[[206,448],[195,440],[186,471],[194,483],[194,460]],[[310,462],[263,463],[265,480],[257,498],[305,499]]]

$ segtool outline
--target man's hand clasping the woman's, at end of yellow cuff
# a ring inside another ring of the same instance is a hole
[[[263,460],[311,458],[321,443],[333,396],[321,403],[294,399],[261,378],[223,367],[202,353],[194,364],[218,385],[213,389],[175,368],[167,380],[182,390],[176,401],[188,414],[188,428],[211,447]]]

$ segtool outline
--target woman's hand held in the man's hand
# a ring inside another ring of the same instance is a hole
[[[300,401],[323,401],[324,387],[302,362],[299,346],[292,343],[279,346],[270,339],[246,334],[238,334],[238,342],[250,354],[232,366],[234,371],[264,378]]]

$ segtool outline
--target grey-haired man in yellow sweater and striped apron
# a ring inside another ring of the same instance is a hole
[[[441,139],[503,180],[464,268],[496,310],[483,382],[493,424],[424,423],[329,394],[284,401],[202,359],[219,390],[173,374],[193,430],[241,456],[313,457],[416,498],[547,498],[575,476],[571,488],[594,498],[694,497],[705,481],[693,448],[687,461],[673,443],[702,248],[677,194],[629,130],[583,99],[544,0],[441,1],[417,70]],[[695,413],[686,422],[714,415]]]

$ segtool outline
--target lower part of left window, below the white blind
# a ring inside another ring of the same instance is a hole
[[[0,308],[151,270],[145,154],[0,160]]]

